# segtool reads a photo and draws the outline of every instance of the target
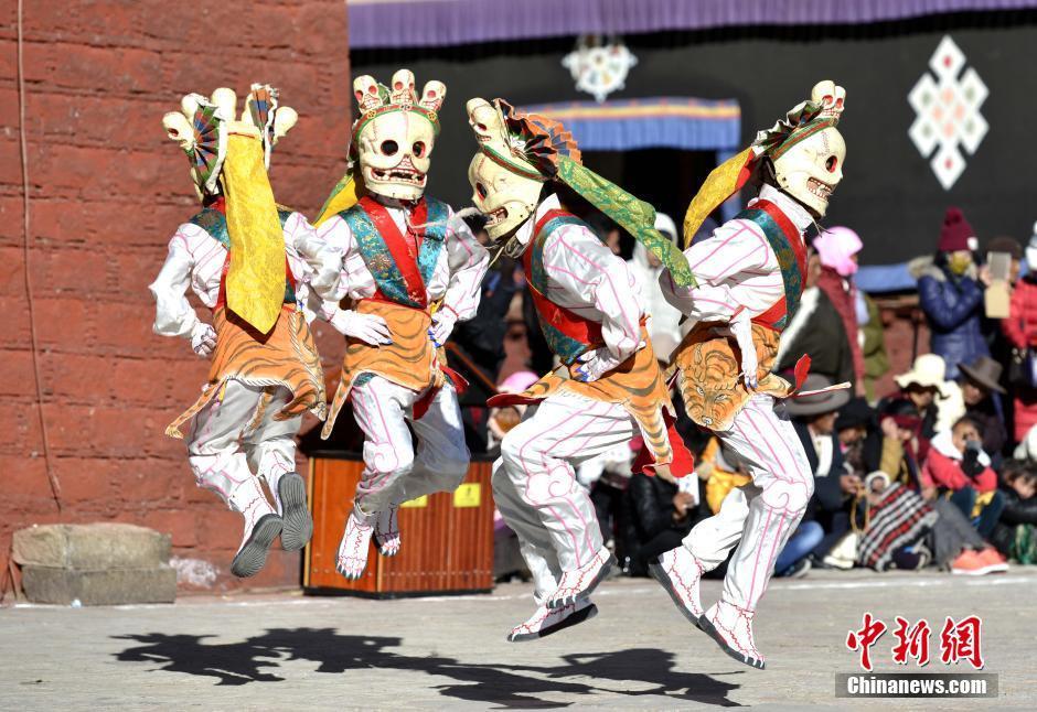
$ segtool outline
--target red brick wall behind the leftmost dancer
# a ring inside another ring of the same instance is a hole
[[[26,2],[23,32],[31,300],[62,508],[47,484],[31,358],[12,1],[0,9],[0,572],[15,529],[118,520],[172,532],[175,557],[218,570],[211,587],[238,586],[227,573],[238,515],[194,486],[182,442],[163,434],[206,363],[151,333],[147,285],[196,209],[161,118],[188,91],[279,87],[300,120],[275,154],[275,193],[312,216],[344,169],[345,2]],[[319,343],[334,362],[338,339]],[[299,554],[278,552],[247,584],[298,581]]]

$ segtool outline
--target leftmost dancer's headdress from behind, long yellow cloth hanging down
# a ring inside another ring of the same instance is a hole
[[[267,176],[270,150],[298,120],[279,106],[277,89],[252,85],[240,120],[237,96],[220,88],[206,99],[189,94],[180,111],[162,118],[170,139],[191,162],[199,196],[225,198],[231,266],[227,308],[260,333],[277,322],[285,294],[285,237]]]

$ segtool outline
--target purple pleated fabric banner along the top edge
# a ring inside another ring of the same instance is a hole
[[[859,24],[1028,8],[1037,8],[1037,0],[351,0],[350,48],[735,25]]]

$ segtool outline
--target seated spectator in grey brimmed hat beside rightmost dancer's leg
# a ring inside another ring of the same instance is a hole
[[[803,390],[821,390],[831,386],[832,381],[826,377],[811,374],[803,384]],[[816,524],[824,532],[811,552],[815,559],[823,558],[849,529],[849,508],[854,495],[860,490],[860,477],[847,473],[843,466],[843,449],[835,435],[838,409],[848,401],[848,390],[834,390],[794,398],[787,404],[814,475],[814,495],[803,520]]]

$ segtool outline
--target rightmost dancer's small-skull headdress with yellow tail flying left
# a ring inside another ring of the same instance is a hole
[[[774,126],[759,131],[741,153],[728,159],[709,173],[684,216],[684,241],[689,245],[696,230],[724,201],[737,193],[769,158],[776,164],[793,148],[826,129],[835,129],[846,103],[846,90],[825,79],[814,85],[811,98],[797,105]],[[837,168],[842,177],[842,166]],[[836,181],[837,183],[837,181]],[[784,187],[784,186],[783,186]],[[831,191],[828,191],[831,192]],[[822,196],[827,201],[826,195]]]

